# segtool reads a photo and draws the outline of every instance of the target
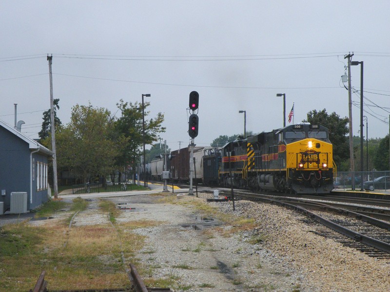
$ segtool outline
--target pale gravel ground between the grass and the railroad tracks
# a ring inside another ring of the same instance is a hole
[[[185,195],[180,202],[206,198],[212,194]],[[109,200],[136,208],[122,211],[118,222],[161,221],[155,227],[135,230],[147,237],[137,258],[156,268],[153,277],[174,276],[185,291],[389,291],[389,260],[370,258],[313,233],[314,227],[302,223],[301,215],[291,210],[236,201],[233,212],[232,202],[210,202],[224,213],[256,221],[254,230],[230,232],[226,237],[233,226],[202,226],[207,222],[191,204],[160,203],[159,199],[146,195]],[[97,213],[97,201],[75,217],[75,225],[108,223],[106,216]],[[195,226],[201,229],[195,230]],[[259,235],[263,241],[248,242]]]

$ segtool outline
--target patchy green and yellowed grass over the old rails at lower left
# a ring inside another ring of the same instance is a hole
[[[87,202],[77,198],[72,210],[86,207]],[[115,218],[115,210],[111,211]],[[47,271],[45,279],[50,290],[129,289],[120,251],[123,249],[126,258],[132,258],[145,239],[132,231],[138,226],[156,224],[152,221],[117,224],[117,233],[111,224],[72,226],[69,230],[63,221],[50,222],[40,227],[9,224],[0,229],[1,290],[29,291],[42,270]]]

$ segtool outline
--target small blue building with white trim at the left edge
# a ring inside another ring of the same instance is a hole
[[[54,153],[0,120],[0,203],[10,210],[11,193],[27,193],[27,210],[46,202],[48,162]]]

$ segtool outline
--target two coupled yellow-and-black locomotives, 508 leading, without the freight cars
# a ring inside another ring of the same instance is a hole
[[[333,188],[328,129],[298,124],[226,144],[219,183],[284,193],[327,194]]]

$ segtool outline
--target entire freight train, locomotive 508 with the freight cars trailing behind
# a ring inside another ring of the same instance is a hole
[[[166,163],[171,178],[188,181],[190,148],[171,154],[175,157]],[[205,185],[298,194],[328,194],[333,189],[332,145],[328,129],[320,125],[290,125],[222,148],[195,147],[194,158],[196,181]],[[162,164],[152,161],[152,178],[161,178]]]

